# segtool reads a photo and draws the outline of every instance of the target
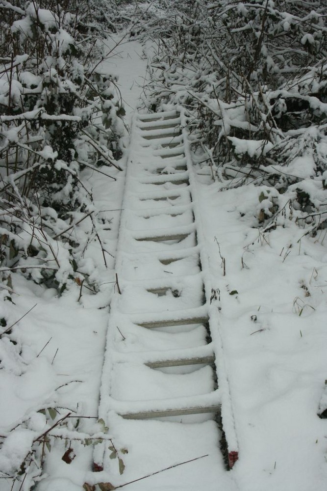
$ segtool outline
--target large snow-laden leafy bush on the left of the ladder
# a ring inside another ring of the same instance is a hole
[[[116,80],[98,70],[102,54],[94,58],[100,7],[0,2],[1,267],[61,290],[80,281],[76,252],[90,240],[75,224],[90,217],[96,233],[80,170],[119,168],[125,132]]]

